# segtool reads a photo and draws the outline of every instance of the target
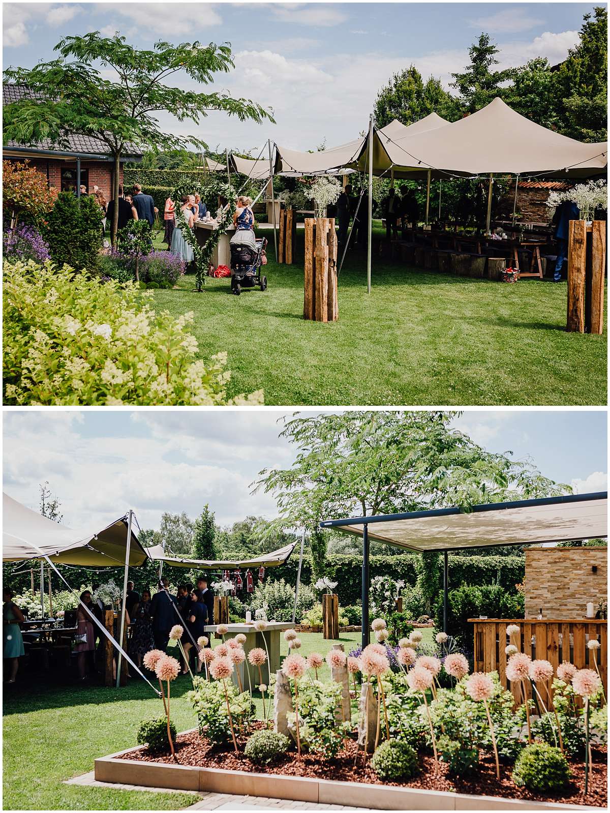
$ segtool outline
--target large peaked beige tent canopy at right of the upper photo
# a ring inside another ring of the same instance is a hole
[[[426,118],[429,118],[427,116]],[[608,166],[608,144],[585,144],[526,119],[495,98],[486,107],[455,121],[403,136],[374,136],[373,172],[394,164],[394,175],[408,170],[437,170],[456,175],[548,173],[569,177],[601,174]],[[364,146],[358,166],[368,166]],[[442,176],[442,175],[441,175]]]

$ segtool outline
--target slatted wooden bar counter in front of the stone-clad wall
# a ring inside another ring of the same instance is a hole
[[[578,669],[595,670],[593,653],[587,648],[588,641],[599,641],[595,657],[604,691],[608,693],[608,621],[597,619],[477,619],[474,624],[474,671],[497,671],[500,683],[511,689],[516,702],[521,702],[521,688],[511,685],[506,676],[508,644],[514,644],[520,652],[531,659],[547,660],[556,669],[563,661],[573,663]],[[519,632],[506,633],[509,624],[516,624]],[[528,697],[532,696],[528,681],[523,684]]]

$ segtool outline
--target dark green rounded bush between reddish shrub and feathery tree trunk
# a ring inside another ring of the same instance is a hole
[[[85,195],[79,206],[72,192],[60,192],[46,219],[44,237],[50,257],[61,267],[94,272],[102,248],[102,210]]]

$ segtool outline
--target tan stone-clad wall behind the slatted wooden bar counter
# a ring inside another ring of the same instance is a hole
[[[592,567],[597,572],[592,572]],[[525,618],[581,619],[608,594],[608,548],[526,548]]]

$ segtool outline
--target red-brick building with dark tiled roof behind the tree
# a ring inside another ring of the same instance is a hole
[[[24,85],[3,85],[2,105],[19,102],[28,96]],[[70,135],[68,146],[58,147],[46,139],[35,144],[19,144],[8,141],[2,147],[2,158],[13,161],[28,160],[30,166],[46,175],[50,186],[58,191],[76,191],[85,185],[92,192],[94,185],[102,189],[110,200],[115,174],[114,159],[108,154],[107,145],[93,136]],[[121,163],[139,162],[142,152],[136,146],[127,145]],[[120,170],[120,183],[123,182],[123,167]]]

